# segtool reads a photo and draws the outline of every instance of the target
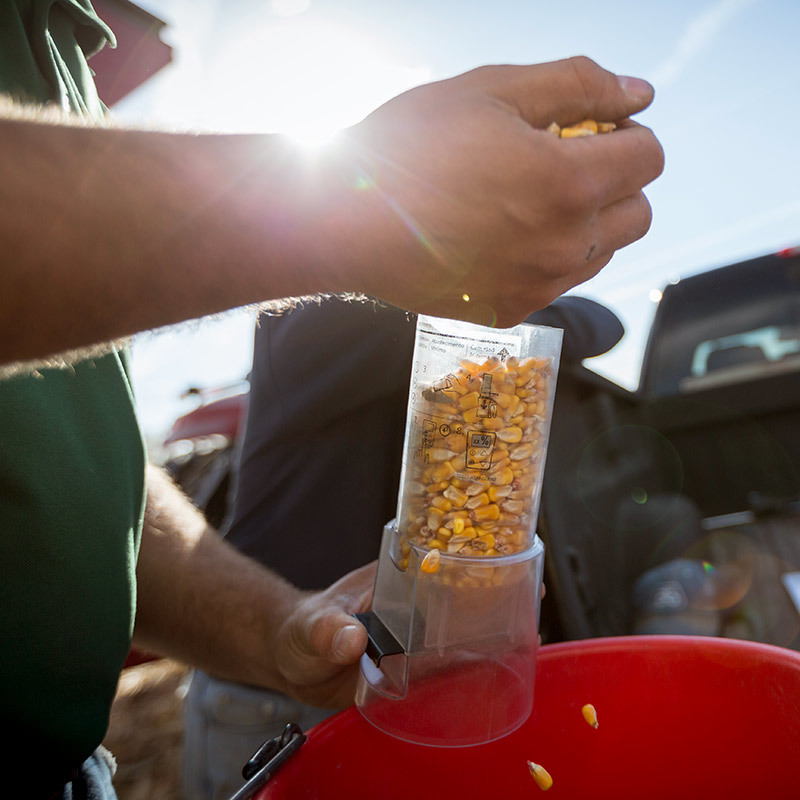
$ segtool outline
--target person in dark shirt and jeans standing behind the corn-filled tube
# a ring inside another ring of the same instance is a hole
[[[564,362],[606,352],[623,333],[582,297],[527,321],[564,329]],[[397,506],[415,331],[413,314],[335,296],[258,321],[226,538],[301,589],[378,555]],[[184,703],[187,800],[229,797],[266,739],[330,713],[196,671]]]

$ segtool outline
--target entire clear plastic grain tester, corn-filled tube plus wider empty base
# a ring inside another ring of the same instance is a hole
[[[531,713],[561,336],[418,319],[397,518],[359,615],[356,705],[396,738],[483,744]]]

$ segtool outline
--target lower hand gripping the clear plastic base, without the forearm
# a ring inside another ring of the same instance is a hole
[[[369,608],[375,567],[361,567],[306,596],[280,628],[275,661],[289,694],[323,708],[353,702],[367,632],[352,614]]]

